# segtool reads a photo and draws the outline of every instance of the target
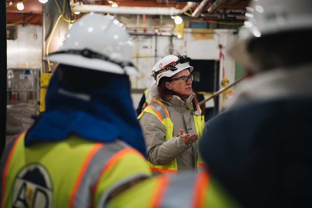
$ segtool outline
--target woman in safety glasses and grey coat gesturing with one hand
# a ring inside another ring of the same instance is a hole
[[[149,87],[152,102],[138,116],[154,175],[205,169],[198,151],[205,121],[192,90],[193,67],[187,56],[163,57]]]

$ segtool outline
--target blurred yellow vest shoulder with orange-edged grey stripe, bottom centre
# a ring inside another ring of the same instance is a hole
[[[183,172],[177,177],[160,174],[123,191],[108,202],[125,208],[241,208],[216,177],[203,171]]]

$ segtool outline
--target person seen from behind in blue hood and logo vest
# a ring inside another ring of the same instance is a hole
[[[152,175],[129,93],[132,45],[110,15],[73,23],[48,56],[60,64],[45,112],[5,148],[0,207],[105,207]]]

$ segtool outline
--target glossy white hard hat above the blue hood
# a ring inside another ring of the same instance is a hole
[[[85,14],[67,31],[52,62],[115,74],[137,74],[131,63],[133,42],[126,27],[111,15]]]

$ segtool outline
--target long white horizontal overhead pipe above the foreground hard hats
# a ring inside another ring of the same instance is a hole
[[[102,12],[112,14],[148,14],[148,15],[171,15],[182,14],[188,11],[186,5],[182,9],[174,7],[111,7],[107,5],[76,5],[74,12],[89,13],[89,12]]]

